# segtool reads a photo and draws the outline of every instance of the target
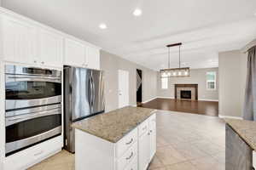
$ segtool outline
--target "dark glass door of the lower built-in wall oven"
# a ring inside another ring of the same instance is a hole
[[[61,134],[61,114],[40,116],[5,128],[6,154],[9,154]]]

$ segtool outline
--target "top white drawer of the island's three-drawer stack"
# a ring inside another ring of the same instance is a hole
[[[116,157],[122,156],[126,150],[128,150],[132,144],[137,142],[137,128],[133,129],[131,133],[128,133],[123,139],[120,139],[116,145]]]

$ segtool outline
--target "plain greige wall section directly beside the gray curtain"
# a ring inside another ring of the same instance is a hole
[[[247,76],[247,54],[228,51],[218,54],[219,115],[241,116]]]

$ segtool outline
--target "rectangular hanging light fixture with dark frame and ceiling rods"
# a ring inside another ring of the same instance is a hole
[[[168,68],[160,70],[160,77],[189,77],[189,67],[180,67],[180,47],[182,42],[169,44],[168,48]],[[178,46],[178,68],[170,68],[170,48]]]

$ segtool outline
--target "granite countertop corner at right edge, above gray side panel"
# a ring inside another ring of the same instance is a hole
[[[237,119],[224,119],[224,121],[229,124],[253,150],[256,150],[256,122]]]

